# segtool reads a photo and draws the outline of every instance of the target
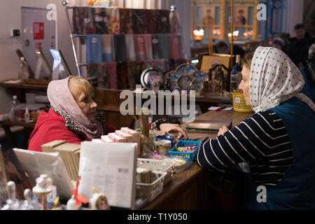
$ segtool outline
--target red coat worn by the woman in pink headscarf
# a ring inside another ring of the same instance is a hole
[[[105,133],[115,132],[116,128],[105,123]],[[53,109],[48,113],[41,112],[38,116],[34,131],[29,138],[29,150],[41,152],[41,145],[55,140],[66,140],[68,143],[80,144],[81,141],[89,141],[83,132],[69,130],[66,120],[59,116]]]

